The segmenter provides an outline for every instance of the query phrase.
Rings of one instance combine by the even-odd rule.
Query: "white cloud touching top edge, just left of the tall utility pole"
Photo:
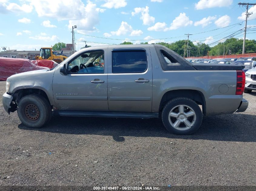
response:
[[[213,7],[228,7],[232,2],[233,0],[200,0],[195,4],[195,8],[199,10]]]

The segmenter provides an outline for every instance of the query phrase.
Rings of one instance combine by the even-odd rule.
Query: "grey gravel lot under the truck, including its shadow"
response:
[[[0,82],[0,93],[5,82]],[[194,135],[160,119],[54,116],[42,129],[0,97],[0,185],[256,185],[256,92],[243,113],[204,117]]]

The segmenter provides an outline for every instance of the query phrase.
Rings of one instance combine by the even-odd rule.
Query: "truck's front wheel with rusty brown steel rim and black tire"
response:
[[[21,122],[31,128],[40,128],[52,116],[49,102],[41,95],[30,94],[21,98],[17,108]]]

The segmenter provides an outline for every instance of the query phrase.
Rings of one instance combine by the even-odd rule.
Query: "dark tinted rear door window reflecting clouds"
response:
[[[147,69],[145,51],[113,51],[112,73],[141,73]]]

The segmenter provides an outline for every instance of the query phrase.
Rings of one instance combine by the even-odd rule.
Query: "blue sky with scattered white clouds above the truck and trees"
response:
[[[134,40],[133,43],[172,43],[187,39],[184,35],[186,33],[193,34],[189,38],[194,43],[200,41],[214,45],[211,43],[235,32],[234,37],[243,37],[239,30],[244,27],[245,8],[239,7],[238,2],[0,0],[0,46],[7,46],[7,49],[39,50],[42,46],[58,42],[72,43],[72,25],[77,25],[76,49],[84,46],[84,41],[92,46],[119,44],[124,40]],[[247,2],[253,3],[250,0]],[[253,33],[256,6],[251,7],[249,12],[254,14],[248,18],[251,32],[248,32],[247,38],[256,39]]]

